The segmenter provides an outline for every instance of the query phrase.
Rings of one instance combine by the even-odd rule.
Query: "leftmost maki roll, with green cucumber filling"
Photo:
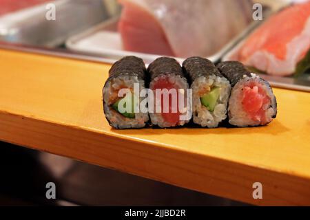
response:
[[[145,64],[141,58],[125,56],[112,65],[103,87],[105,118],[116,129],[143,128],[149,120],[147,112],[139,109],[139,91],[145,88]],[[138,94],[134,92],[134,86]]]

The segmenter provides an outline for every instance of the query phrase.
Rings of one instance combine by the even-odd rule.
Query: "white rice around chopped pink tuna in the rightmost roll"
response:
[[[261,124],[260,121],[251,119],[247,114],[247,112],[243,110],[242,89],[245,87],[245,84],[249,82],[258,83],[259,85],[261,85],[262,89],[266,91],[267,96],[270,98],[270,102],[262,106],[262,109],[264,109],[266,113],[267,124],[271,122],[271,120],[277,113],[276,97],[273,95],[270,85],[267,82],[260,79],[259,76],[255,76],[253,74],[252,77],[245,77],[242,80],[240,80],[231,90],[231,97],[229,99],[228,111],[229,111],[229,123],[232,125],[240,127],[265,125]]]

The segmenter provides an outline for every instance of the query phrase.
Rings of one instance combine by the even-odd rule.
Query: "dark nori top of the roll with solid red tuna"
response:
[[[177,76],[185,77],[183,69],[174,58],[160,57],[153,61],[147,68],[151,80],[154,80],[161,74],[176,74]]]

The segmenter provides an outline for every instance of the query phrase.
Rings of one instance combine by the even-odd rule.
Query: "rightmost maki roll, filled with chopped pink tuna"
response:
[[[262,126],[276,118],[276,97],[266,80],[250,73],[237,61],[219,63],[217,67],[232,87],[228,106],[230,124]]]

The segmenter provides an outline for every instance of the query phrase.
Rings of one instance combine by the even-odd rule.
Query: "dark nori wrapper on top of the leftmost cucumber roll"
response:
[[[109,79],[121,75],[129,75],[138,76],[139,79],[145,80],[145,73],[146,69],[143,59],[136,56],[125,56],[112,65],[109,71]]]

